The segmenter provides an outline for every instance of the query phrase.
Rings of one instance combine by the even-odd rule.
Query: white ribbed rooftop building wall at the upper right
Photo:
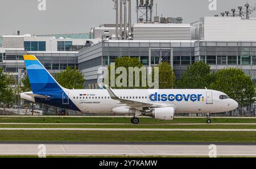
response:
[[[255,41],[256,19],[240,17],[204,17],[191,24],[197,40],[207,41]],[[199,29],[200,28],[200,29]]]

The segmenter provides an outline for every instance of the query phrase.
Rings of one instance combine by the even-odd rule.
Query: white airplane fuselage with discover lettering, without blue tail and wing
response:
[[[113,108],[122,106],[104,89],[65,92],[82,112],[111,113]],[[221,95],[225,95],[223,92],[207,89],[127,89],[113,92],[120,99],[174,107],[175,113],[220,113],[232,111],[238,106],[233,99],[220,99]]]

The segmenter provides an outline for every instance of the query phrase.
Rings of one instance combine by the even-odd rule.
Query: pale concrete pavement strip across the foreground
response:
[[[42,149],[44,145],[46,151]],[[208,156],[213,147],[211,143],[0,142],[0,155],[38,155],[46,152],[46,155]],[[256,157],[256,144],[216,144],[216,153],[218,156]]]

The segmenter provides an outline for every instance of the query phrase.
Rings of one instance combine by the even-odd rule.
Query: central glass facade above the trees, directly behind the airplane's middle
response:
[[[117,57],[138,57],[143,65],[148,65],[148,52],[151,48],[151,65],[160,61],[170,62],[173,54],[174,65],[190,65],[195,62],[193,43],[109,43],[102,44],[103,64],[114,62]]]

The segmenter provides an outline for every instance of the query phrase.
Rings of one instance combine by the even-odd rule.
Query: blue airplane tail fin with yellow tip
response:
[[[61,91],[62,87],[55,81],[51,74],[44,68],[34,55],[23,56],[28,79],[34,94],[48,93],[49,91]]]

